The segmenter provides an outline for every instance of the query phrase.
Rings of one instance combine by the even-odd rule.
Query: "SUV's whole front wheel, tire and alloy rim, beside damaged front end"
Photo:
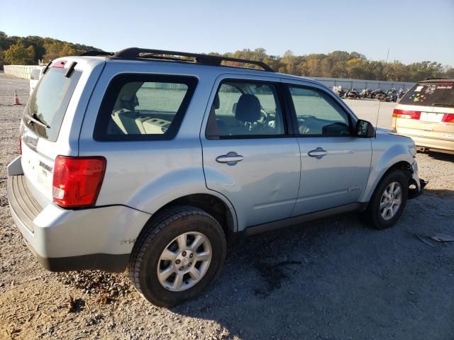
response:
[[[387,229],[396,224],[404,211],[408,197],[408,177],[396,169],[385,175],[370,199],[362,220],[376,229]]]

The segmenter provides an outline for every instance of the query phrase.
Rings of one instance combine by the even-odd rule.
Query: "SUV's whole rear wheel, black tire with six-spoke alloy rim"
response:
[[[134,245],[129,276],[138,293],[172,307],[201,293],[226,258],[221,225],[204,210],[177,206],[158,212]]]

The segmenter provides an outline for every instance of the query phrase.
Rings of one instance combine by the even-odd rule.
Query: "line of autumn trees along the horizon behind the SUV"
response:
[[[52,38],[8,36],[0,32],[0,68],[4,64],[37,64],[57,57],[80,55],[99,48],[74,44]],[[216,52],[210,55],[221,55]],[[384,62],[368,60],[358,52],[334,51],[328,54],[267,55],[264,48],[227,52],[222,56],[265,62],[276,71],[304,77],[353,78],[383,81],[419,81],[426,78],[454,78],[454,68],[439,62],[423,61],[403,64],[397,60]]]

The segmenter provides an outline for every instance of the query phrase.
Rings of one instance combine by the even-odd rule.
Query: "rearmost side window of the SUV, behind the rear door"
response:
[[[181,77],[121,75],[106,91],[96,140],[148,140],[175,137],[196,80]]]

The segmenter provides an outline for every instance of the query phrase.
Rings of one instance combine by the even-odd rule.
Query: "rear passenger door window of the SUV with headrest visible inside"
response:
[[[284,120],[274,84],[223,81],[211,106],[209,138],[284,135]]]

